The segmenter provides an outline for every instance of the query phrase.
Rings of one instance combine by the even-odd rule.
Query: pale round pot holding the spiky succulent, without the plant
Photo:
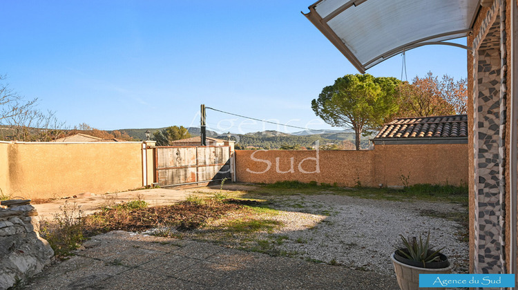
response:
[[[390,259],[396,270],[399,288],[401,290],[437,290],[437,288],[419,288],[419,274],[449,274],[452,273],[453,264],[441,269],[427,269],[403,264],[394,259],[394,253],[390,255]]]

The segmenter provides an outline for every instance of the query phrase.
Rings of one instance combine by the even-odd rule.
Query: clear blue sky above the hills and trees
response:
[[[199,126],[205,104],[331,128],[311,99],[358,71],[300,13],[313,2],[4,0],[0,74],[70,126]],[[407,75],[466,77],[466,54],[450,46],[407,51]],[[400,78],[401,63],[392,57],[367,73]],[[242,121],[207,111],[209,128],[220,131],[298,131]]]

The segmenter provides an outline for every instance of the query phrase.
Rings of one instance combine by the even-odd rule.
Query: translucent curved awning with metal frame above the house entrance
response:
[[[307,19],[362,73],[394,55],[466,37],[479,0],[320,0]],[[470,49],[470,48],[468,48]]]

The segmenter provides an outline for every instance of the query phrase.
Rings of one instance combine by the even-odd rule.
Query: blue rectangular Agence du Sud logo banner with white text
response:
[[[515,287],[515,274],[419,274],[419,287]]]

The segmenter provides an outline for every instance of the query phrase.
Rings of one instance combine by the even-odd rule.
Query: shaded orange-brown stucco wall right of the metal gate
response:
[[[236,177],[240,182],[274,183],[286,180],[340,186],[410,184],[466,184],[468,180],[467,144],[376,145],[374,151],[236,151]],[[253,159],[255,158],[255,160]],[[293,172],[291,168],[293,158]],[[305,171],[305,172],[304,172]],[[255,173],[254,173],[255,172]],[[310,172],[310,173],[308,173]]]

